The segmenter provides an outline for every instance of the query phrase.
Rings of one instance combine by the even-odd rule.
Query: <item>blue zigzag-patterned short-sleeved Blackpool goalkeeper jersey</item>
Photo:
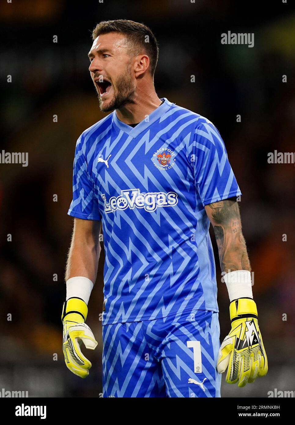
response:
[[[102,323],[218,312],[204,205],[241,195],[216,127],[163,99],[136,127],[116,111],[76,145],[69,215],[102,221]]]

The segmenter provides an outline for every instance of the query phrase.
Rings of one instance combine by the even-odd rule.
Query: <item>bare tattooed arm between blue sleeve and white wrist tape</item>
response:
[[[227,273],[229,270],[251,271],[236,199],[225,199],[206,207],[207,215],[214,228],[221,271]]]

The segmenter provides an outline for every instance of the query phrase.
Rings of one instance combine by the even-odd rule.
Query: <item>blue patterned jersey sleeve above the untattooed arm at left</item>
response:
[[[94,184],[88,172],[88,164],[82,151],[82,136],[76,144],[73,171],[73,200],[68,215],[85,220],[99,220],[98,201],[94,193]]]

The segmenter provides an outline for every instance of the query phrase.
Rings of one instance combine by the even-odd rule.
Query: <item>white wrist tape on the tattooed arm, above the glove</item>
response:
[[[238,298],[253,298],[251,273],[248,270],[235,270],[223,277],[227,285],[230,302]]]

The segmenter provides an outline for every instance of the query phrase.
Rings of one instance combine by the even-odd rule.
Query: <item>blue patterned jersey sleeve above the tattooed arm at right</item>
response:
[[[202,116],[196,124],[190,156],[203,206],[241,195],[224,142],[215,125]]]

